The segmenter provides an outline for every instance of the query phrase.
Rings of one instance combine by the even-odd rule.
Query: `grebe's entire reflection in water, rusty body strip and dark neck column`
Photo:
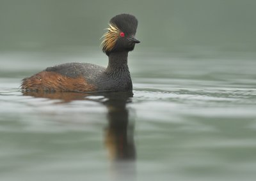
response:
[[[73,100],[91,100],[102,103],[108,109],[108,126],[104,129],[104,145],[112,161],[133,161],[136,159],[133,131],[134,122],[129,122],[127,103],[131,102],[132,92],[23,92],[24,96],[35,98],[60,99],[63,103]],[[104,96],[104,99],[92,99]]]

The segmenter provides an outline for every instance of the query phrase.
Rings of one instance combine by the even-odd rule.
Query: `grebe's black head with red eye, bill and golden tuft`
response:
[[[102,37],[102,50],[107,55],[111,52],[132,51],[136,40],[135,34],[138,26],[138,20],[133,15],[120,14],[111,18],[109,21],[108,32]]]

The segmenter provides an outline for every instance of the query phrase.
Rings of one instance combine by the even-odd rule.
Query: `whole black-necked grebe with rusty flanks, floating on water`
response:
[[[67,63],[46,68],[24,78],[24,91],[131,91],[132,81],[127,64],[128,52],[134,49],[138,20],[120,14],[111,18],[103,36],[102,50],[109,57],[108,67],[88,63]]]

